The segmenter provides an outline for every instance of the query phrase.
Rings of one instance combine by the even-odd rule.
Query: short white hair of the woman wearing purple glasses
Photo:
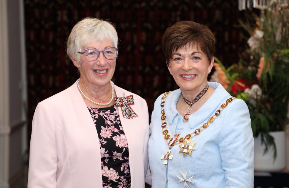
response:
[[[110,39],[113,42],[113,47],[117,48],[117,31],[114,26],[108,21],[97,18],[84,18],[78,21],[72,28],[67,41],[67,54],[69,58],[74,58],[79,61],[80,54],[85,45],[88,45],[92,40],[103,41],[103,39]]]

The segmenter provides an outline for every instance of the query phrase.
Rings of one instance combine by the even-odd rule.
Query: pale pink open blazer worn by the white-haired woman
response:
[[[114,85],[117,97],[133,95],[138,117],[120,121],[127,138],[131,187],[145,187],[148,107],[143,98]],[[101,188],[98,134],[76,82],[37,105],[32,122],[28,188]]]

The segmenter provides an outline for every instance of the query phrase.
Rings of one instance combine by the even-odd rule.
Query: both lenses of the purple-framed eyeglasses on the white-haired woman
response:
[[[116,48],[106,48],[103,52],[103,55],[106,59],[114,59],[117,56]],[[95,61],[99,57],[100,51],[94,49],[85,50],[85,58],[87,61]]]

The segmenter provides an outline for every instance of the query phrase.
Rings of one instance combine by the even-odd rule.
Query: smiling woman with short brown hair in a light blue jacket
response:
[[[253,187],[248,107],[221,84],[207,82],[213,33],[180,21],[166,29],[162,48],[180,88],[155,101],[148,143],[152,187]]]

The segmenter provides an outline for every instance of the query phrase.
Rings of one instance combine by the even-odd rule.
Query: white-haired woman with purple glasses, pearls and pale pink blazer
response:
[[[80,79],[37,105],[28,187],[145,187],[148,107],[111,81],[117,41],[107,21],[73,27],[67,54]]]

